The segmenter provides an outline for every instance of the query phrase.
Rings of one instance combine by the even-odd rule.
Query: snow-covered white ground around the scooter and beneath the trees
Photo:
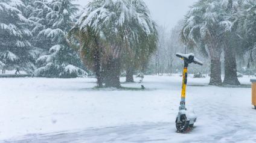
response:
[[[181,80],[146,76],[143,91],[138,83],[98,90],[91,78],[2,78],[0,142],[256,142],[251,88],[210,87],[208,78],[188,79],[197,123],[176,133]]]

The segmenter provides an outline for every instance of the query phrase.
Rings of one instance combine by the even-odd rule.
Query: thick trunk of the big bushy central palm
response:
[[[120,85],[120,72],[121,62],[120,59],[109,58],[106,64],[106,87],[121,87]]]

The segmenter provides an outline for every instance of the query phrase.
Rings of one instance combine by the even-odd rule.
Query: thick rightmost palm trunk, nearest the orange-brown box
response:
[[[237,62],[235,58],[234,48],[225,46],[225,76],[223,84],[228,85],[240,85],[237,78]]]

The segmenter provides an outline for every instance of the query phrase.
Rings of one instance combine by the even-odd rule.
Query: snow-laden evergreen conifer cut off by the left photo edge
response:
[[[32,22],[24,17],[22,1],[0,2],[0,61],[10,70],[19,67],[32,73],[34,49],[28,41],[32,33],[27,28]]]

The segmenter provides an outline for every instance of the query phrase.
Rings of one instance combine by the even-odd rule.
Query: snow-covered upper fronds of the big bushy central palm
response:
[[[86,26],[91,26],[95,31],[101,34],[101,38],[108,37],[108,32],[118,35],[122,32],[123,37],[138,36],[133,26],[138,31],[149,35],[155,32],[155,22],[149,17],[149,10],[144,7],[144,11],[136,8],[144,5],[142,1],[124,1],[124,0],[107,0],[107,1],[92,1],[83,11],[77,25],[83,31],[86,31]],[[132,25],[133,24],[133,25]],[[127,31],[123,31],[124,28]],[[138,32],[137,31],[137,32]]]

